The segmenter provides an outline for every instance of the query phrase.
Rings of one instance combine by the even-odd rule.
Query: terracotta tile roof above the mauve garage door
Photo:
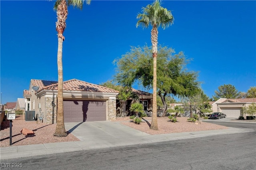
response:
[[[38,86],[40,88],[40,83],[37,81]],[[48,85],[43,87],[42,89],[52,89],[52,90],[58,90],[58,83]],[[110,89],[107,87],[103,87],[100,85],[87,83],[85,81],[81,81],[78,79],[71,79],[68,81],[63,82],[63,90],[66,91],[94,91],[94,92],[103,92],[103,93],[119,93],[119,91],[116,91],[114,89]]]

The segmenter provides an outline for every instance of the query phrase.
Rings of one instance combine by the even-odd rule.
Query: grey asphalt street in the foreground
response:
[[[251,124],[246,124],[250,128]],[[244,125],[244,126],[246,126]],[[235,125],[234,125],[235,126]],[[255,170],[256,130],[1,161],[1,169]]]

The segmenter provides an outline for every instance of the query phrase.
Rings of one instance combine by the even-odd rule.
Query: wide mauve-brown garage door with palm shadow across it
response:
[[[106,101],[64,100],[64,122],[106,121]]]

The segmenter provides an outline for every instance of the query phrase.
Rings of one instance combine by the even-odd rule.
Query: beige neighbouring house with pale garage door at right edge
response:
[[[226,114],[227,117],[246,117],[248,115],[243,114],[242,108],[247,107],[252,103],[256,103],[256,98],[226,99],[220,103],[216,103],[217,112],[222,112]]]

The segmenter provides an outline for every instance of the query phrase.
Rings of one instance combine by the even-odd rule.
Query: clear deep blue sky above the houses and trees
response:
[[[136,28],[136,15],[153,1],[92,0],[68,8],[63,78],[100,84],[112,79],[112,61],[130,46],[151,45],[150,30]],[[30,79],[58,80],[56,12],[53,1],[0,1],[2,104],[16,102]],[[164,1],[174,24],[159,28],[158,42],[184,51],[200,71],[208,97],[220,85],[247,92],[256,86],[256,1]],[[140,89],[140,87],[138,87]]]

